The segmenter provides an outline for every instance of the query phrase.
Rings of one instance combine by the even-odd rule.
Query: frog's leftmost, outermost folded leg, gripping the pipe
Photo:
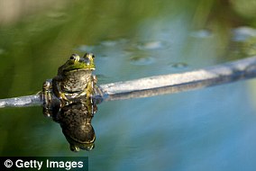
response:
[[[42,91],[41,91],[41,100],[42,100],[43,114],[47,117],[50,117],[52,115],[52,112],[51,112],[51,103],[52,103],[51,80],[46,80],[43,83]]]

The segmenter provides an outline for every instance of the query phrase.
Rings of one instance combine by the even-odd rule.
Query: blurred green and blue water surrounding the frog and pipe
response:
[[[0,98],[37,93],[74,52],[95,53],[99,85],[250,57],[255,12],[255,0],[2,0]],[[251,171],[255,84],[101,103],[90,152],[69,151],[40,106],[1,109],[0,155],[87,156],[90,170]]]

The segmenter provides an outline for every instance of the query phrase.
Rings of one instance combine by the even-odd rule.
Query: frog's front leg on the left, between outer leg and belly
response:
[[[52,91],[53,93],[59,98],[60,100],[60,107],[66,105],[69,103],[69,99],[66,97],[66,95],[61,91],[60,87],[60,78],[59,76],[56,76],[52,79]]]

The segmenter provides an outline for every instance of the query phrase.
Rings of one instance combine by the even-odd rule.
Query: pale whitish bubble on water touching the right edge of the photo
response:
[[[251,37],[256,37],[256,30],[250,27],[239,27],[233,30],[234,41],[245,41]]]

